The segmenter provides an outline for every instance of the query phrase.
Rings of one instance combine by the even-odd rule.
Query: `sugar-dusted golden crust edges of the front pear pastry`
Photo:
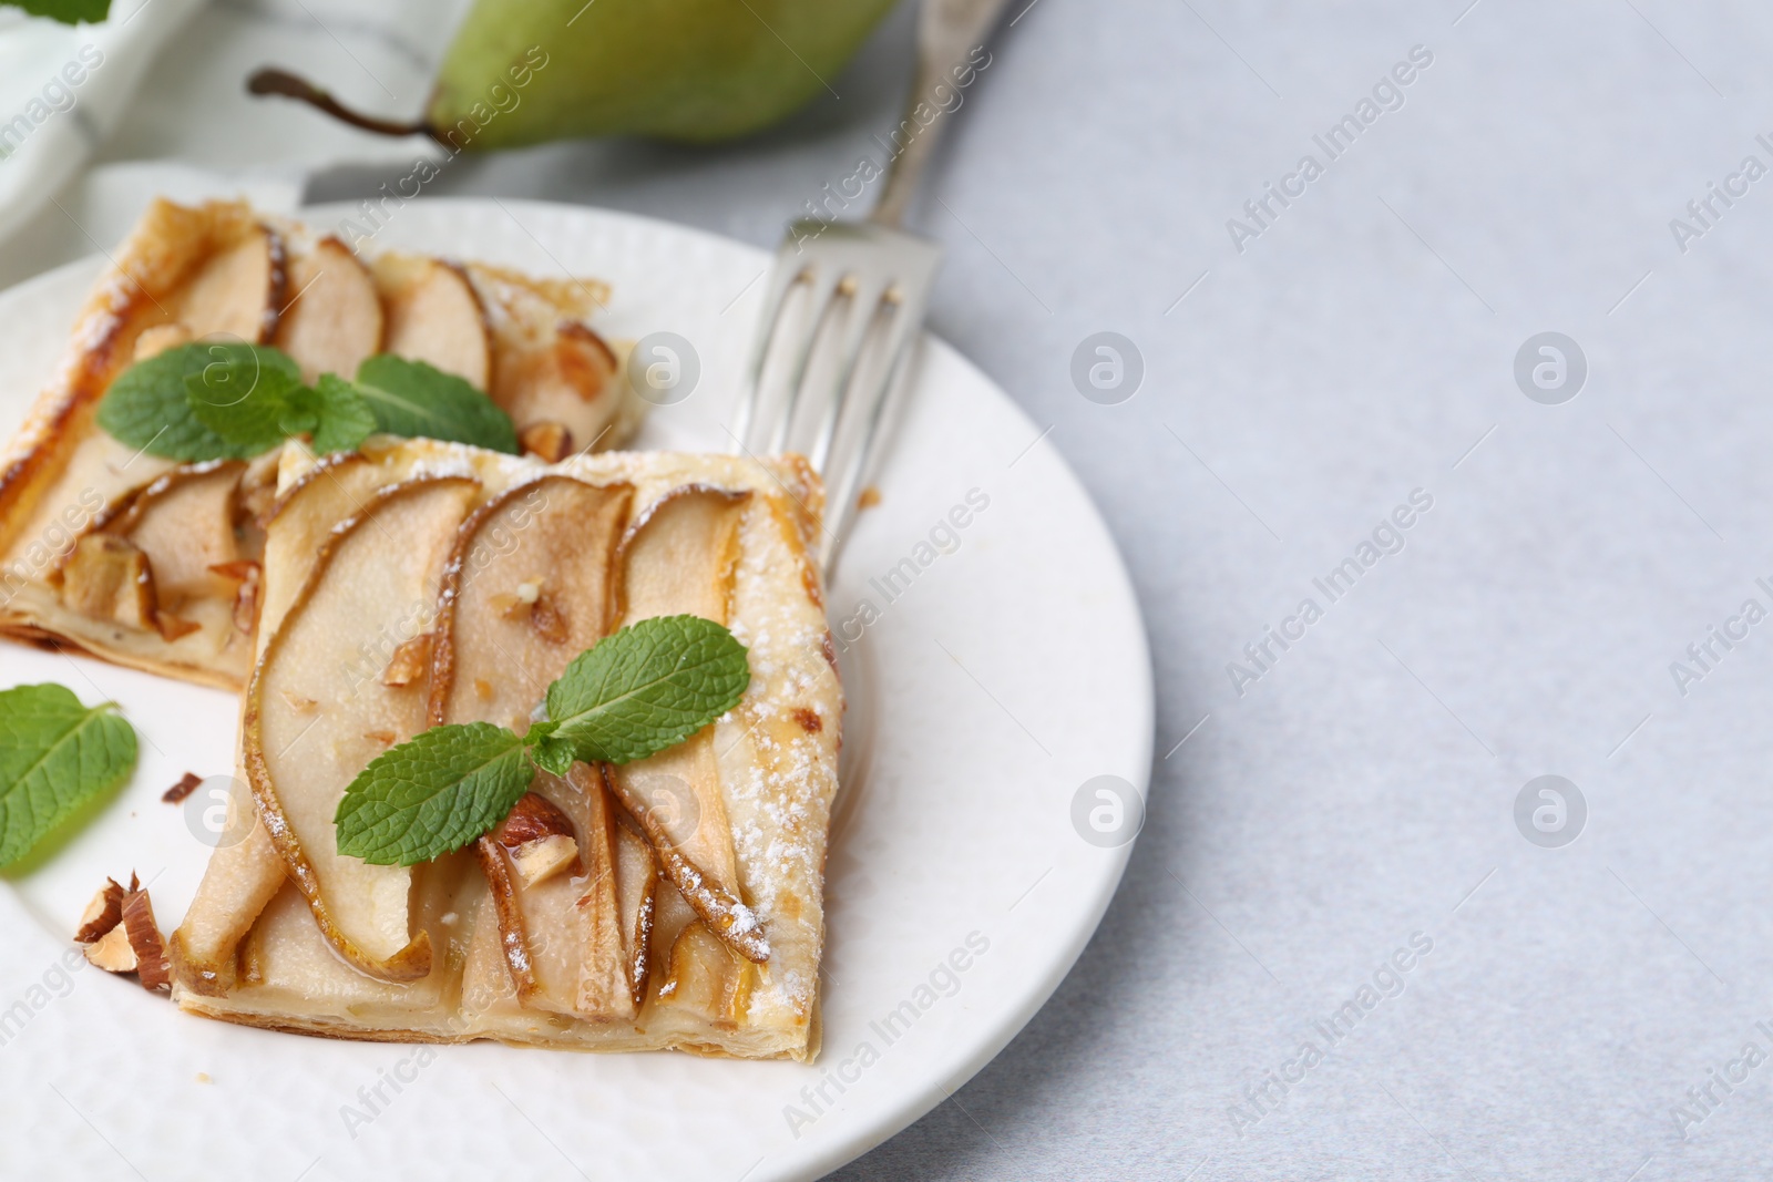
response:
[[[337,463],[337,461],[333,461]],[[312,461],[287,454],[282,486],[301,487]],[[817,1051],[817,978],[823,952],[823,870],[830,805],[837,789],[842,691],[828,650],[819,571],[821,487],[793,457],[757,464],[730,455],[605,454],[562,464],[512,459],[477,448],[404,441],[351,461],[355,489],[417,477],[465,477],[482,503],[543,477],[633,489],[629,521],[647,521],[686,487],[734,494],[738,544],[730,560],[729,626],[752,654],[745,700],[711,727],[720,812],[730,844],[734,888],[759,916],[769,955],[754,966],[723,952],[697,913],[663,879],[652,932],[651,973],[638,1014],[589,1021],[558,1007],[523,1005],[496,946],[489,888],[461,854],[422,868],[413,886],[413,929],[436,950],[426,980],[372,980],[326,946],[300,893],[284,886],[262,913],[236,916],[239,946],[229,973],[206,976],[181,955],[176,934],[174,998],[193,1014],[298,1033],[383,1042],[511,1044],[587,1051],[683,1049],[697,1054],[808,1060]],[[328,477],[330,480],[330,477]],[[314,484],[314,487],[324,487]],[[312,553],[332,528],[287,496],[271,519],[266,611],[287,603],[278,555]],[[546,574],[546,572],[537,572]],[[424,689],[422,686],[418,688]],[[342,783],[339,790],[342,792]],[[269,844],[262,844],[269,851]],[[275,851],[261,852],[275,858]],[[238,904],[229,883],[241,852],[218,854],[186,927],[209,934]],[[225,881],[223,881],[225,879]],[[245,925],[245,927],[241,927]],[[230,980],[223,980],[230,978]]]

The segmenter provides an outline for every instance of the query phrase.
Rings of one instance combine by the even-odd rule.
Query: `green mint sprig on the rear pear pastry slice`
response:
[[[252,459],[291,436],[316,452],[349,452],[376,431],[511,452],[516,427],[461,377],[392,354],[358,379],[321,374],[269,346],[197,342],[137,362],[99,402],[99,427],[128,447],[177,461]]]

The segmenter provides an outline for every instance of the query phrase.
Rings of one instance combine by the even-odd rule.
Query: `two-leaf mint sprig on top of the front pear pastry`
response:
[[[574,760],[631,764],[674,748],[738,705],[750,679],[745,645],[713,620],[631,624],[573,659],[548,688],[548,719],[521,737],[454,723],[371,760],[333,815],[339,852],[411,867],[461,849],[505,819],[534,767],[564,776]]]

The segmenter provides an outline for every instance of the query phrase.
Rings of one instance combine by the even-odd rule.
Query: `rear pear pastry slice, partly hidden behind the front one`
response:
[[[307,381],[395,353],[498,402],[544,459],[628,439],[644,404],[587,324],[601,284],[381,252],[239,202],[156,200],[87,299],[60,372],[0,455],[0,633],[238,689],[255,652],[277,457],[179,464],[96,425],[137,360],[268,344]]]

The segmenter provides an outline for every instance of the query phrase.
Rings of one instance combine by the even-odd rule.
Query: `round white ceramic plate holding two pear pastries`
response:
[[[762,252],[527,202],[411,204],[376,241],[610,280],[610,335],[679,333],[702,367],[686,400],[654,411],[642,447],[727,450],[720,424],[762,298]],[[98,268],[0,294],[5,434]],[[881,503],[862,516],[828,599],[849,636],[851,767],[826,875],[824,1051],[810,1067],[303,1038],[67,971],[69,932],[105,875],[138,870],[161,927],[177,923],[209,854],[204,801],[179,808],[160,794],[184,771],[232,767],[236,707],[211,689],[0,645],[0,684],[57,680],[115,700],[142,735],[137,774],[103,817],[0,888],[0,1173],[814,1178],[941,1102],[1058,985],[1121,879],[1129,845],[1080,836],[1080,787],[1112,774],[1142,797],[1151,764],[1138,608],[1108,532],[1039,434],[927,340]],[[956,507],[972,510],[956,514],[965,528],[943,525]]]

